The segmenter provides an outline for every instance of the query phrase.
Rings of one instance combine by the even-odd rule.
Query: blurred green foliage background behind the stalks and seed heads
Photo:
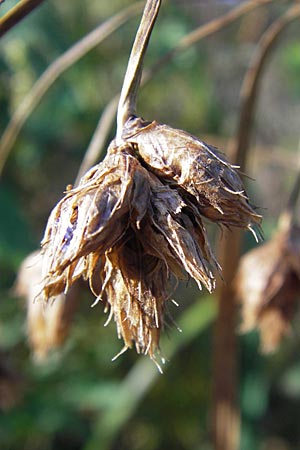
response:
[[[16,2],[7,0],[0,14]],[[0,131],[46,67],[128,0],[46,1],[0,41]],[[166,2],[145,65],[181,37],[236,6],[234,1]],[[139,112],[226,150],[235,135],[239,92],[259,37],[288,6],[274,1],[182,52],[142,90]],[[36,364],[25,305],[12,286],[38,248],[51,208],[73,183],[98,118],[122,85],[138,26],[131,19],[70,68],[26,122],[0,185],[0,449],[209,450],[214,296],[178,288],[171,311],[183,332],[164,332],[164,375],[103,327],[101,304],[82,290],[70,337]],[[247,172],[271,235],[292,186],[300,123],[300,26],[288,27],[268,61],[258,98]],[[114,130],[111,131],[111,137]],[[208,225],[209,226],[209,225]],[[215,236],[213,226],[211,234]],[[245,236],[244,250],[255,245]],[[299,322],[299,318],[298,318]],[[300,336],[268,357],[255,333],[239,338],[242,450],[300,448]]]

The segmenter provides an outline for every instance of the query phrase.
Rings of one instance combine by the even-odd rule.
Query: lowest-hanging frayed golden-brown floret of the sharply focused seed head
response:
[[[119,337],[153,358],[163,325],[167,275],[162,261],[145,255],[136,237],[106,255],[105,298]]]

